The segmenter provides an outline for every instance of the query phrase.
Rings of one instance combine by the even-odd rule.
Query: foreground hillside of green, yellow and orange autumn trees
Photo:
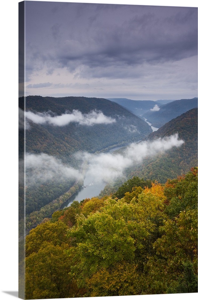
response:
[[[26,299],[197,292],[197,168],[139,184],[73,202],[30,231]]]

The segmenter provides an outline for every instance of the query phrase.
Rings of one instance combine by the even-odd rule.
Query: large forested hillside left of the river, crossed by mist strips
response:
[[[19,211],[23,211],[26,192],[27,230],[52,214],[83,185],[83,161],[76,159],[76,152],[94,153],[127,145],[150,132],[146,122],[106,99],[28,96],[19,98],[21,110],[24,105],[26,191],[22,182]],[[19,128],[19,155],[23,143],[24,129]],[[22,216],[19,214],[19,219]]]

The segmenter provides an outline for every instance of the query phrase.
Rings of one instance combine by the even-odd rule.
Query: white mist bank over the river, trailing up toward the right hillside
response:
[[[146,157],[157,155],[173,147],[180,147],[184,143],[178,139],[178,134],[154,141],[132,143],[122,154],[101,153],[99,155],[81,153],[77,157],[83,157],[88,161],[87,173],[93,180],[112,181],[124,175],[128,167],[139,164]]]

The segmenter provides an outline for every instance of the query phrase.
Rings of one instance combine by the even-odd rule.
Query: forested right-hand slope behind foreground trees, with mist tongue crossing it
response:
[[[186,173],[190,168],[196,167],[197,108],[193,108],[166,123],[158,131],[152,132],[148,139],[155,140],[176,133],[179,134],[179,139],[185,142],[181,147],[174,147],[165,154],[145,159],[141,166],[128,170],[128,178],[139,176],[144,179],[158,179],[158,182],[164,183],[167,178],[173,179]]]

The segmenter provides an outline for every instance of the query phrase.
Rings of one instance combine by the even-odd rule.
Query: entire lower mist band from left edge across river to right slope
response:
[[[91,154],[78,152],[76,160],[86,162],[88,165],[86,174],[93,181],[110,182],[125,176],[125,170],[140,164],[146,157],[152,157],[158,153],[166,152],[173,147],[180,147],[184,143],[179,140],[178,134],[154,141],[142,141],[130,144],[122,154],[100,153]],[[26,184],[36,184],[53,180],[61,182],[67,179],[83,179],[80,170],[63,164],[60,159],[41,154],[26,154],[25,160]]]

